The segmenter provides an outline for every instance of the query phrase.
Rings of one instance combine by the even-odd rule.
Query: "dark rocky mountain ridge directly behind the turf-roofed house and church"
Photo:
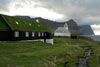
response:
[[[20,17],[20,16],[18,16]],[[70,19],[69,21],[65,21],[65,22],[56,22],[56,21],[52,21],[52,20],[48,20],[48,19],[44,19],[41,17],[37,17],[37,18],[29,18],[27,16],[21,16],[20,18],[25,18],[25,19],[30,19],[30,20],[35,20],[37,22],[42,22],[44,23],[52,32],[54,32],[58,27],[64,27],[64,24],[67,23],[69,31],[71,33],[75,33],[75,34],[80,34],[80,30],[76,24],[76,22],[73,19]]]

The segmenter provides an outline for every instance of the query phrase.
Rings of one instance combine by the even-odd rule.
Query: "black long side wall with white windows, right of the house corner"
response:
[[[15,37],[15,32],[19,32],[19,36]],[[26,37],[26,32],[28,31],[13,31],[13,41],[18,40],[35,40],[35,39],[50,39],[51,34],[48,32],[34,32],[34,37],[32,37],[32,32],[28,32],[29,35]]]

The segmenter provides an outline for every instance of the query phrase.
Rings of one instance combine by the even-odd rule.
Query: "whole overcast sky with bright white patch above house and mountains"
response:
[[[99,24],[100,0],[0,0],[0,13]]]

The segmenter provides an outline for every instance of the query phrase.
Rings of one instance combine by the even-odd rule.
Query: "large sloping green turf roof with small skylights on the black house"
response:
[[[21,19],[14,16],[2,15],[13,30],[51,32],[43,23]]]

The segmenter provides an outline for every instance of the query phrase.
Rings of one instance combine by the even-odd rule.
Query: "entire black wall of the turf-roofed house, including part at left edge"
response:
[[[19,36],[15,37],[15,32],[19,32]],[[39,40],[43,39],[44,42],[51,42],[53,36],[48,32],[34,32],[34,37],[32,37],[32,32],[28,32],[29,36],[26,37],[26,32],[28,31],[0,31],[0,41],[21,41],[21,40]]]

